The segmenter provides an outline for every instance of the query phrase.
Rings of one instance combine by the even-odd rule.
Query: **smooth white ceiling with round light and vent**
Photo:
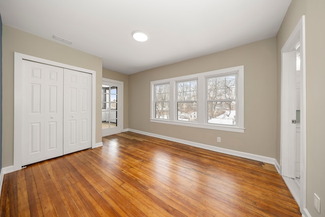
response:
[[[0,0],[3,24],[132,74],[276,36],[291,0]],[[132,38],[145,32],[147,42]]]

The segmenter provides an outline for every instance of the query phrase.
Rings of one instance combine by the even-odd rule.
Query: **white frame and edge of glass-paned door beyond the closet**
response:
[[[104,130],[102,129],[102,137],[104,136],[109,136],[112,134],[117,134],[117,133],[121,133],[123,131],[123,112],[124,112],[124,107],[123,107],[123,93],[124,93],[124,86],[123,86],[123,81],[117,81],[117,80],[112,80],[109,78],[103,78],[102,80],[102,84],[105,83],[109,83],[109,84],[113,84],[115,86],[117,86],[117,97],[118,97],[118,101],[117,101],[117,126],[116,128],[114,128],[114,130],[112,130],[111,132],[109,132],[108,134],[104,132]],[[104,135],[105,133],[105,135]]]

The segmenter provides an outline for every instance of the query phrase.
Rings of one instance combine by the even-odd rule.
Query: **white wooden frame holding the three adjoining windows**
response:
[[[236,100],[236,125],[218,125],[215,123],[208,123],[207,118],[207,96],[206,96],[206,79],[208,77],[237,74],[237,100]],[[177,82],[184,80],[198,80],[198,114],[197,121],[181,121],[177,119]],[[155,118],[154,107],[154,86],[157,84],[170,84],[170,115],[169,119]],[[163,80],[156,80],[150,82],[150,121],[158,123],[168,123],[171,125],[197,127],[212,130],[230,131],[244,133],[244,66],[232,67],[221,70],[214,70],[193,75],[186,75],[176,78],[168,78]]]

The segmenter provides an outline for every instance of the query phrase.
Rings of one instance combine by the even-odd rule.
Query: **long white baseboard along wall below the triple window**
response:
[[[128,131],[143,134],[143,135],[147,135],[147,136],[152,136],[152,137],[159,138],[159,139],[166,139],[166,140],[169,140],[169,141],[178,142],[178,143],[182,143],[182,144],[185,144],[185,145],[190,145],[190,146],[194,146],[194,147],[198,147],[198,148],[203,148],[203,149],[206,149],[206,150],[211,150],[211,151],[215,151],[215,152],[230,154],[230,155],[236,156],[236,157],[241,157],[241,158],[246,158],[246,159],[259,161],[259,162],[263,162],[263,163],[267,163],[267,164],[272,164],[272,165],[275,166],[275,168],[277,169],[278,172],[280,171],[279,170],[280,166],[279,166],[277,160],[274,159],[274,158],[259,156],[257,154],[246,153],[246,152],[241,152],[241,151],[235,151],[235,150],[226,149],[226,148],[220,148],[220,147],[216,147],[216,146],[212,146],[212,145],[206,145],[206,144],[191,142],[191,141],[182,140],[182,139],[176,139],[176,138],[173,138],[173,137],[162,136],[162,135],[158,135],[158,134],[147,133],[147,132],[133,130],[133,129],[128,129]]]

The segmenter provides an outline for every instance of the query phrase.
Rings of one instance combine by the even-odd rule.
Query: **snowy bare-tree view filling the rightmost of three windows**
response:
[[[236,125],[236,77],[207,78],[208,123]]]

